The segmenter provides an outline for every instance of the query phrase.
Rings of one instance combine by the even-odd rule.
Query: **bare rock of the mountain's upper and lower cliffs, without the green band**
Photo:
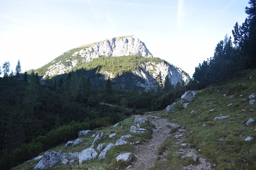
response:
[[[100,57],[120,57],[140,55],[145,58],[153,58],[153,55],[147,50],[145,44],[136,36],[125,36],[118,38],[111,38],[96,42],[92,44],[82,45],[57,57],[40,70],[39,74],[50,77],[68,73],[71,70],[77,69],[81,64],[92,61],[94,58]],[[122,73],[114,74],[110,70],[101,70],[101,79],[111,78],[113,82],[122,82],[122,86],[137,86],[139,89],[145,91],[154,89],[158,86],[157,76],[161,74],[162,84],[164,84],[165,77],[168,76],[172,84],[176,85],[178,82],[184,81],[188,83],[190,78],[180,68],[164,61],[147,60],[138,65],[131,71],[133,75],[129,74],[129,78],[122,75]],[[131,78],[132,76],[132,78]],[[117,80],[119,79],[119,80]],[[125,83],[126,82],[126,83]],[[127,89],[127,88],[126,88]]]

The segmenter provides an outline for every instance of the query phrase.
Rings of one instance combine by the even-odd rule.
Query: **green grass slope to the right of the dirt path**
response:
[[[252,76],[252,79],[249,77]],[[256,124],[246,126],[249,118],[256,118],[255,104],[249,105],[248,96],[256,93],[256,70],[248,70],[240,77],[210,86],[203,90],[196,91],[196,98],[188,104],[186,109],[177,106],[176,110],[166,114],[165,110],[159,111],[157,115],[165,116],[170,122],[185,126],[187,131],[185,136],[190,146],[196,150],[201,149],[203,157],[212,164],[216,164],[216,169],[256,169],[256,142],[244,141],[247,136],[256,138]],[[234,95],[233,99],[230,96]],[[243,95],[243,96],[240,96]],[[246,99],[244,102],[243,100]],[[231,106],[228,106],[231,104]],[[216,112],[209,110],[216,108]],[[194,110],[193,114],[190,112]],[[214,120],[220,115],[229,115],[229,118]],[[171,130],[174,133],[176,130]],[[173,142],[159,148],[161,153],[163,148],[168,148],[168,161],[158,162],[157,168],[166,168],[166,164],[181,165]],[[164,144],[163,143],[163,144]],[[189,160],[187,162],[189,164]],[[185,163],[185,164],[187,164]]]

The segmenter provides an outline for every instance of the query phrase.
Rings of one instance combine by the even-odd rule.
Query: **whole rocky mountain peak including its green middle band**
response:
[[[135,64],[137,61],[132,61],[135,59],[128,61],[120,60],[121,57],[129,58],[132,56],[137,56],[136,59],[139,58],[140,62]],[[102,61],[94,66],[90,65],[89,68],[84,66],[84,64],[90,63],[94,59],[110,59],[112,57],[119,57],[120,61],[118,63],[114,63],[113,60],[111,62],[105,62],[107,65],[104,66],[102,66]],[[117,64],[118,67],[113,69],[113,65]],[[129,67],[128,70],[127,67]],[[79,46],[63,53],[61,56],[35,71],[44,80],[47,76],[53,78],[78,69],[97,69],[97,73],[101,75],[101,80],[110,78],[114,83],[118,82],[120,84],[121,82],[124,89],[127,89],[128,86],[136,86],[135,89],[143,91],[156,89],[158,85],[164,84],[166,76],[173,85],[176,85],[178,82],[187,84],[190,80],[189,75],[181,68],[159,58],[153,58],[153,55],[148,51],[145,44],[134,35],[110,38]],[[132,73],[129,74],[129,78],[124,76],[124,73],[127,72]],[[115,80],[117,78],[119,79]],[[129,79],[129,83],[133,83],[125,83],[127,79]]]

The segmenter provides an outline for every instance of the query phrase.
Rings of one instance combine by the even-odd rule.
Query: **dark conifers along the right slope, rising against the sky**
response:
[[[250,0],[249,4],[250,7],[245,8],[248,17],[241,26],[236,22],[233,27],[233,41],[225,35],[217,44],[214,56],[195,68],[190,82],[194,88],[204,88],[256,67],[256,2]]]

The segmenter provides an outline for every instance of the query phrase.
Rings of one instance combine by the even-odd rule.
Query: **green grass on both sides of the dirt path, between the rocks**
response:
[[[248,96],[256,93],[256,69],[244,71],[239,77],[227,80],[217,85],[212,85],[202,90],[196,91],[195,99],[183,108],[182,104],[177,104],[175,110],[166,113],[165,109],[157,111],[156,116],[162,116],[169,119],[170,123],[179,124],[184,132],[183,142],[187,143],[190,148],[196,149],[196,154],[206,158],[210,166],[215,169],[256,169],[256,143],[255,129],[256,123],[249,126],[246,122],[249,118],[256,119],[255,106],[250,105]],[[252,99],[255,100],[255,99]],[[231,105],[230,105],[231,104]],[[215,112],[209,110],[216,109]],[[194,112],[191,112],[194,111]],[[214,120],[215,117],[229,115],[228,118]],[[109,139],[102,138],[99,143],[115,142],[120,136],[129,133],[131,125],[134,124],[134,116],[120,122],[120,126],[115,129],[117,137]],[[143,128],[150,130],[152,124],[146,124]],[[182,148],[177,145],[178,139],[174,137],[177,129],[170,131],[170,136],[162,143],[158,149],[158,154],[167,152],[165,160],[157,160],[152,169],[182,169],[185,165],[195,165],[199,162],[184,161],[180,159],[181,155],[177,153]],[[104,132],[105,136],[113,133],[113,126],[96,129],[95,131]],[[134,135],[130,142],[145,141],[151,138],[152,131],[145,135]],[[252,141],[245,141],[247,136],[252,136]],[[93,140],[91,135],[83,138],[88,142],[85,145],[73,148],[65,148],[65,141],[54,151],[79,152],[89,147],[90,141]],[[88,144],[89,143],[89,144]],[[80,147],[80,148],[79,148]],[[99,161],[86,161],[81,165],[62,165],[60,162],[57,166],[50,169],[116,169],[127,166],[125,164],[116,164],[115,158],[118,153],[132,152],[132,145],[122,145],[113,147],[109,150],[106,159]],[[41,153],[43,154],[43,153]],[[136,159],[135,157],[133,159]],[[29,169],[38,161],[25,162],[14,169]]]

